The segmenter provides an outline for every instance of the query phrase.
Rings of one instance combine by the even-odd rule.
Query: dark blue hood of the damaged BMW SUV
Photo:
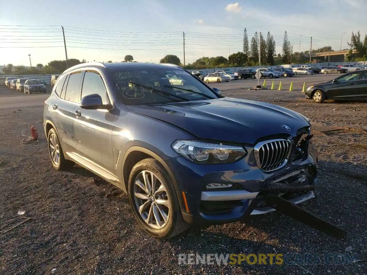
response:
[[[295,136],[308,122],[297,112],[270,103],[220,98],[170,104],[129,105],[127,108],[176,125],[200,139],[254,144],[258,139]],[[288,125],[287,131],[281,125]]]

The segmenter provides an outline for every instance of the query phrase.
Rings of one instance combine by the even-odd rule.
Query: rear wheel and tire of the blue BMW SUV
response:
[[[51,164],[56,170],[62,171],[73,167],[74,162],[69,161],[64,157],[59,137],[57,136],[57,133],[54,128],[51,128],[50,131],[48,132],[47,147],[48,147],[48,153],[50,154],[51,158]],[[52,147],[55,148],[55,151],[53,151]],[[57,153],[58,153],[58,162],[56,161]]]

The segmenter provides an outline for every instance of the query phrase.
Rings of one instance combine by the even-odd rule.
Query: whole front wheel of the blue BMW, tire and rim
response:
[[[152,175],[156,177],[155,192],[151,191]],[[158,193],[157,189],[161,189],[161,186],[164,189]],[[130,205],[139,224],[149,235],[167,239],[182,233],[189,227],[189,224],[183,220],[176,191],[178,190],[175,190],[170,175],[156,159],[143,159],[131,169],[128,180]],[[142,205],[145,205],[146,209],[143,208],[145,212],[140,213],[139,208],[141,209]],[[159,222],[152,213],[153,207],[155,207],[156,213],[158,212]],[[163,219],[163,214],[166,221]]]

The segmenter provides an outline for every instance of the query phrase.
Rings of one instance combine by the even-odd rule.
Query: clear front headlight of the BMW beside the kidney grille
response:
[[[246,156],[243,147],[206,143],[199,140],[176,140],[172,149],[183,158],[197,164],[221,164],[238,161]]]

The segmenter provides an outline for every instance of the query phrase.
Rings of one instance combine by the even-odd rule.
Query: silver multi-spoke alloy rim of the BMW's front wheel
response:
[[[142,219],[150,227],[163,228],[170,216],[170,201],[166,186],[148,170],[140,172],[134,182],[135,205]]]

